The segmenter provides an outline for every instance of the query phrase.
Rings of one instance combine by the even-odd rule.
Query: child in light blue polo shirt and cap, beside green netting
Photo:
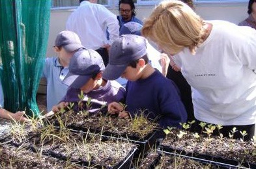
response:
[[[72,31],[59,32],[53,46],[57,57],[48,57],[44,63],[42,77],[47,80],[47,110],[51,110],[64,94],[68,86],[62,83],[68,73],[68,64],[78,49],[83,48],[78,35]]]

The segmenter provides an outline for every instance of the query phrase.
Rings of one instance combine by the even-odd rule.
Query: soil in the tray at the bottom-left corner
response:
[[[76,164],[70,164],[70,162],[59,161],[59,159],[50,156],[7,145],[0,147],[0,159],[0,168],[81,168]]]

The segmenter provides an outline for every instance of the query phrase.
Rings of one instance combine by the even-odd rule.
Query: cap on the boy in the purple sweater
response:
[[[79,49],[74,53],[68,65],[69,72],[63,83],[72,88],[81,88],[92,75],[105,69],[100,54],[92,49]]]

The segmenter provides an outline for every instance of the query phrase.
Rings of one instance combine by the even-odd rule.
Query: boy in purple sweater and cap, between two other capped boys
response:
[[[53,112],[68,106],[70,102],[76,103],[75,110],[78,110],[78,95],[83,91],[88,101],[91,98],[90,112],[101,109],[113,101],[124,99],[124,88],[116,81],[102,79],[102,71],[105,69],[104,62],[100,55],[92,49],[80,49],[70,60],[69,72],[64,78],[63,83],[70,86],[66,95],[53,107]],[[84,104],[86,105],[86,104]],[[83,107],[83,109],[88,109]]]

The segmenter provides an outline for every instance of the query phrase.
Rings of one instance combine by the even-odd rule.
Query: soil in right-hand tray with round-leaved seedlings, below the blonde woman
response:
[[[194,133],[186,131],[186,134],[179,138],[179,129],[173,129],[163,140],[162,146],[167,149],[181,153],[195,153],[208,155],[219,159],[230,159],[239,162],[256,163],[256,148],[253,141],[244,142],[230,138],[218,138],[205,135],[195,138]]]

